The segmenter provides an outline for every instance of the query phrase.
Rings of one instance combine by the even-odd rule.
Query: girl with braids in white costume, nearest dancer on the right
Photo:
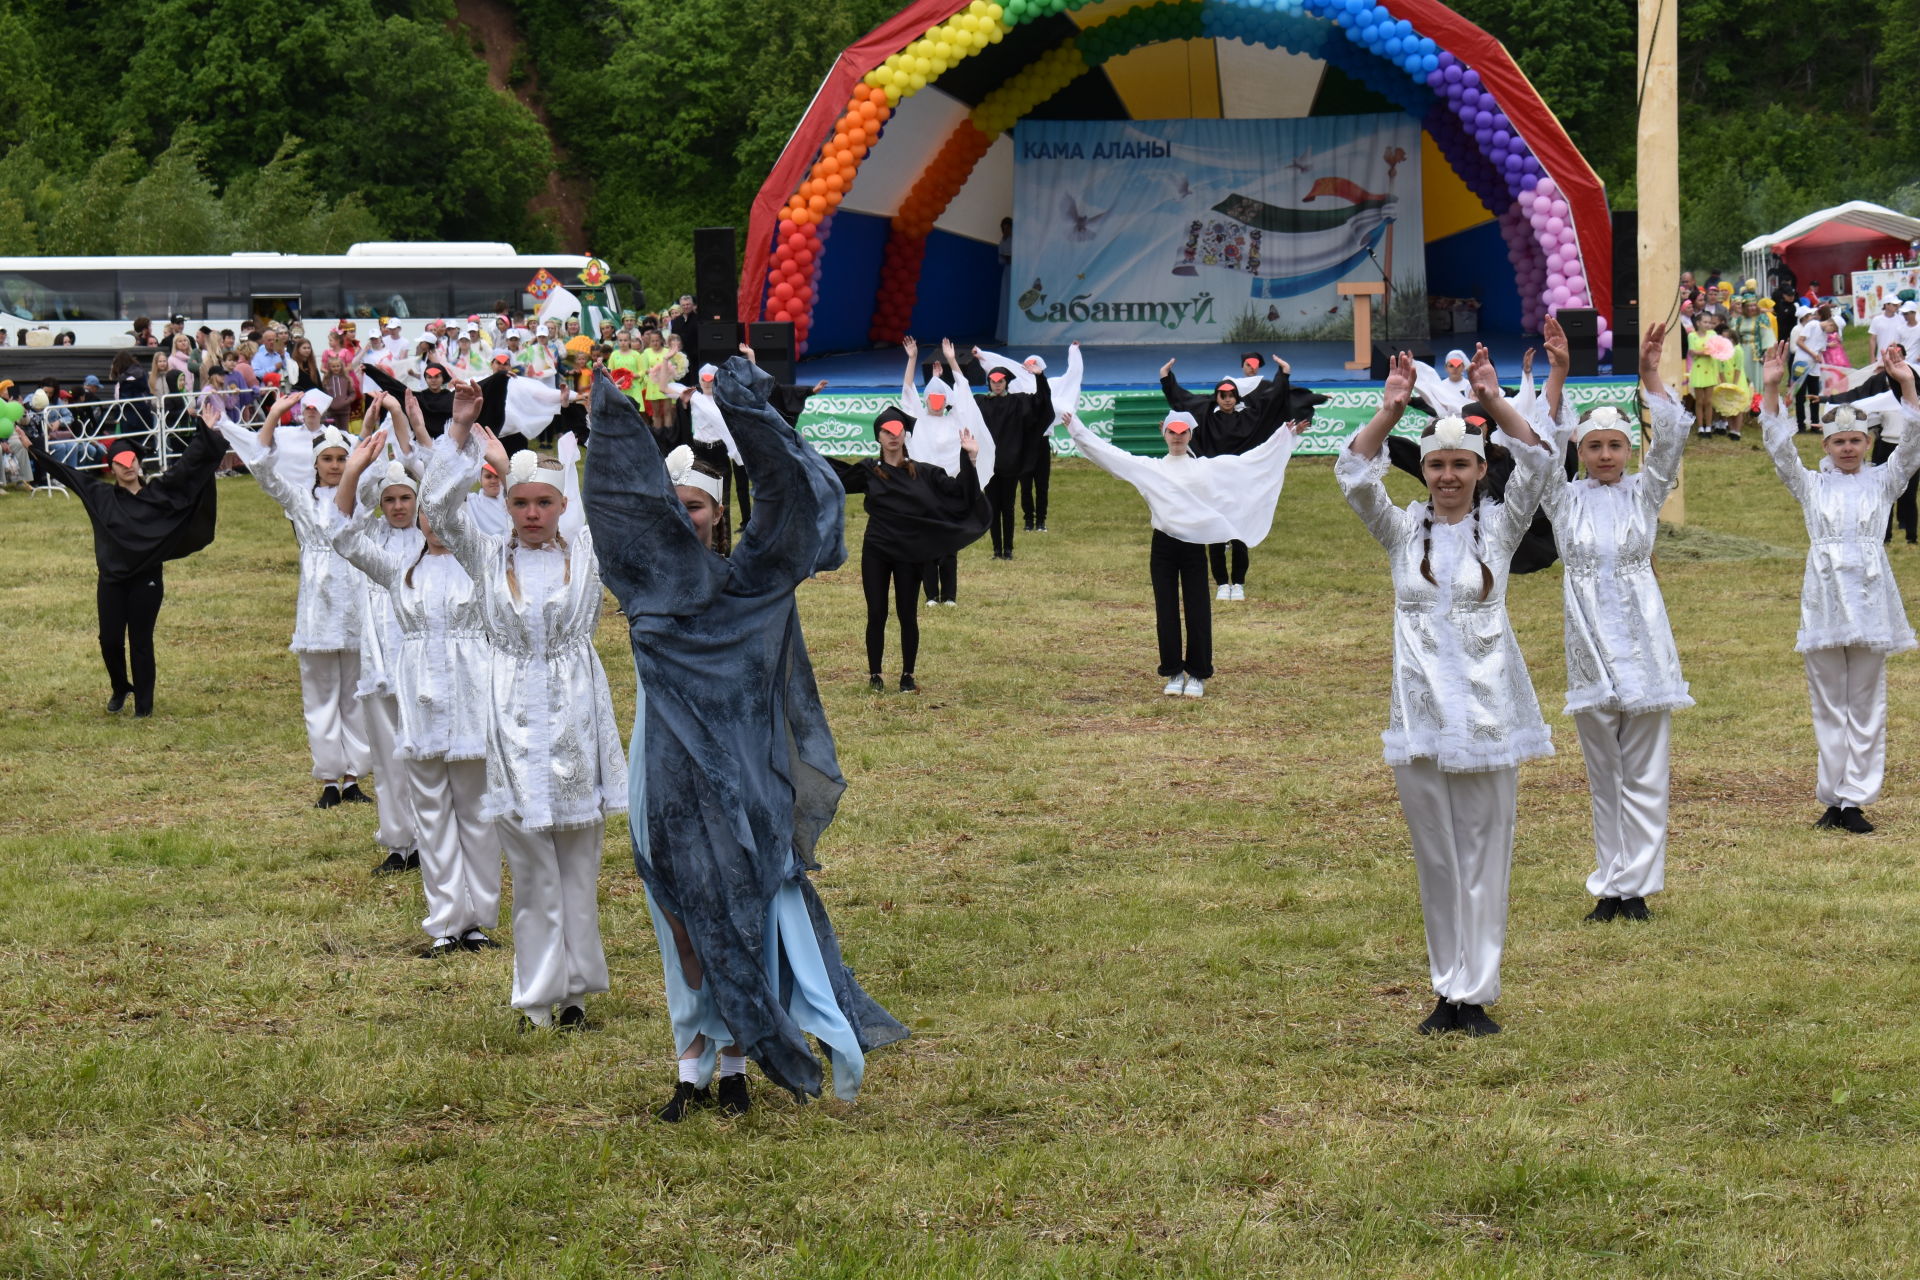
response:
[[[1484,1036],[1500,1031],[1484,1006],[1500,998],[1519,764],[1553,754],[1507,622],[1507,562],[1555,455],[1501,395],[1486,347],[1469,376],[1513,455],[1503,503],[1482,497],[1486,439],[1461,418],[1421,436],[1428,499],[1400,509],[1386,495],[1382,445],[1413,391],[1405,351],[1334,478],[1394,576],[1394,689],[1380,739],[1413,837],[1438,996],[1419,1031]]]

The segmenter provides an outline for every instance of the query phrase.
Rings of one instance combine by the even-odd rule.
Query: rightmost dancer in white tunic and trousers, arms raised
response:
[[[1793,649],[1807,662],[1812,699],[1812,737],[1820,748],[1816,796],[1826,812],[1816,827],[1864,835],[1874,829],[1862,812],[1880,798],[1887,770],[1887,654],[1914,647],[1914,629],[1893,581],[1882,543],[1893,503],[1920,468],[1920,401],[1914,374],[1899,347],[1882,355],[1905,415],[1901,443],[1885,462],[1866,461],[1866,405],[1836,405],[1820,424],[1826,459],[1809,470],[1793,447],[1793,418],[1780,403],[1786,344],[1766,353],[1761,436],[1774,470],[1807,520],[1807,576],[1801,583],[1801,626]]]

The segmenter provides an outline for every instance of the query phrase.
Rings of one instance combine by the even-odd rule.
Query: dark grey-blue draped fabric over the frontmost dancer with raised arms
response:
[[[586,507],[601,580],[620,603],[645,691],[645,816],[634,862],[676,915],[735,1044],[770,1080],[820,1094],[822,1069],[787,1015],[787,975],[768,979],[768,904],[806,900],[833,994],[864,1052],[906,1036],[841,961],[806,871],[847,789],[793,593],[847,560],[833,468],[768,405],[772,378],[733,357],[714,399],[755,482],[753,522],[732,557],[701,547],[659,443],[634,403],[593,382]],[[643,756],[643,762],[639,760]],[[660,940],[670,946],[668,938]]]

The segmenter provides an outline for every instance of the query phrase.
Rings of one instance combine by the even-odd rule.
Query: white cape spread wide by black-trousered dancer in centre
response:
[[[1300,443],[1294,428],[1283,424],[1246,453],[1146,459],[1100,439],[1079,418],[1068,424],[1068,436],[1094,466],[1140,491],[1154,528],[1167,537],[1248,547],[1258,547],[1273,530],[1286,462]]]

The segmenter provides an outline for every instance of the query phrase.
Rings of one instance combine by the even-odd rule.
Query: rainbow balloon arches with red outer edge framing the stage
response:
[[[1089,2],[918,0],[849,46],[755,198],[741,317],[791,320],[804,353],[835,211],[876,163],[895,107],[1021,25]],[[1194,38],[1323,59],[1417,117],[1498,223],[1523,326],[1536,332],[1557,309],[1594,307],[1601,349],[1611,345],[1603,184],[1505,48],[1434,0],[1164,0],[1079,27],[979,98],[931,155],[883,157],[918,165],[918,177],[891,215],[868,338],[906,334],[927,238],[1000,134],[1112,58]]]

